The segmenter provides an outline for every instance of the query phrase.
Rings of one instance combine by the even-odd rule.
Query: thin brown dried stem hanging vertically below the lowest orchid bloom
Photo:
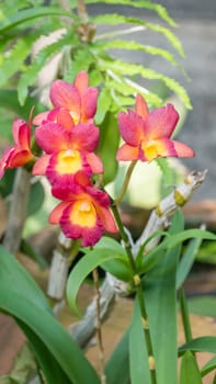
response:
[[[95,300],[96,300],[96,337],[99,342],[99,352],[100,352],[100,363],[101,363],[101,384],[105,384],[105,363],[104,363],[104,348],[103,348],[103,338],[102,338],[102,323],[101,323],[101,293],[99,289],[99,271],[98,269],[93,270],[93,282],[95,289]]]

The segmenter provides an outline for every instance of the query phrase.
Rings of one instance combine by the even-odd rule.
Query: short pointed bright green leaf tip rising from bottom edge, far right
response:
[[[180,384],[202,384],[201,372],[193,353],[186,351],[182,358]]]

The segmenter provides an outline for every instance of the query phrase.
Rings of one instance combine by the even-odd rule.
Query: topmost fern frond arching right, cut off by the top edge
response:
[[[134,0],[118,0],[117,3],[115,0],[87,0],[86,3],[89,4],[98,4],[98,3],[106,3],[113,5],[129,5],[134,8],[148,9],[158,14],[163,21],[166,21],[170,26],[177,26],[175,21],[169,15],[167,9],[158,3],[152,3],[151,1],[134,1]]]

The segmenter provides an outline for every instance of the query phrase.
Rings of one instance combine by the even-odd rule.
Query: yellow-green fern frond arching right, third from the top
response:
[[[178,64],[178,61],[175,60],[175,58],[173,57],[173,55],[169,50],[158,48],[155,46],[150,46],[150,45],[144,45],[144,44],[137,43],[135,41],[127,42],[124,39],[115,39],[115,41],[111,41],[111,42],[100,43],[100,44],[98,44],[98,47],[103,48],[103,49],[141,50],[141,52],[150,54],[150,55],[160,56],[160,57],[164,58],[166,60],[170,61],[175,67],[180,66]]]

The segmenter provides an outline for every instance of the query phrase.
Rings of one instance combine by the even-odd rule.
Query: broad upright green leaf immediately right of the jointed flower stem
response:
[[[177,212],[169,234],[182,230],[183,216]],[[178,331],[175,274],[181,245],[168,250],[144,280],[158,384],[177,384]],[[166,346],[161,352],[161,346]]]

